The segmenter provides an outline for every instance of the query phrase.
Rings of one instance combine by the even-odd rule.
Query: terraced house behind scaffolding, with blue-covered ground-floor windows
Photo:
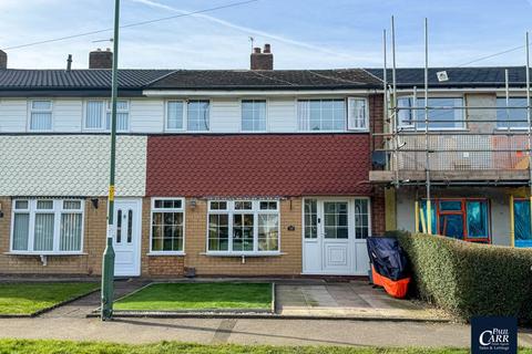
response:
[[[375,135],[370,180],[389,187],[387,227],[531,247],[525,67],[430,69],[427,102],[424,77],[397,70],[397,110]]]

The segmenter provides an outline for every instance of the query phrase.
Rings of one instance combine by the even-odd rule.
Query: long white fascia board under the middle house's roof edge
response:
[[[144,90],[149,97],[231,97],[231,96],[324,96],[324,95],[367,95],[379,90]]]

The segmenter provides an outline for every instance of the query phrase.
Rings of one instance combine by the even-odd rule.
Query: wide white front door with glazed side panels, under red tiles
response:
[[[305,198],[303,272],[367,275],[369,199]]]

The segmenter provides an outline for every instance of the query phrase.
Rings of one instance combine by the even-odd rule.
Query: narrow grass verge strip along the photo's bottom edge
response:
[[[202,345],[183,344],[177,342],[161,342],[144,345],[94,343],[94,342],[66,342],[66,341],[29,341],[29,340],[0,340],[0,354],[458,354],[469,353],[469,350],[457,348],[361,348],[348,346],[266,346],[266,345]],[[532,351],[523,350],[519,353],[531,354]]]

